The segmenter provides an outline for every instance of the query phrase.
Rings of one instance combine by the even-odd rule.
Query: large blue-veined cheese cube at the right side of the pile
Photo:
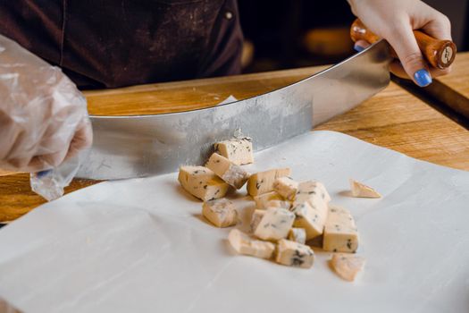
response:
[[[342,207],[331,207],[324,226],[322,249],[354,253],[358,248],[358,232],[354,218]]]

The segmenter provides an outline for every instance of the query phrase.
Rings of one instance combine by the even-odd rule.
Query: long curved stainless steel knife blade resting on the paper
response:
[[[212,145],[236,130],[255,150],[272,147],[348,111],[389,84],[389,46],[378,42],[342,63],[274,90],[222,106],[136,116],[91,116],[93,147],[79,177],[123,179],[202,165]]]

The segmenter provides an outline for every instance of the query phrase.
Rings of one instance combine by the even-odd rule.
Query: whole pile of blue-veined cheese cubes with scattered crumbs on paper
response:
[[[322,239],[322,250],[342,252],[333,255],[331,266],[342,278],[354,280],[364,266],[364,258],[352,254],[358,248],[358,232],[353,216],[342,207],[329,203],[331,196],[321,182],[295,182],[289,168],[247,173],[241,166],[254,162],[252,142],[248,138],[215,144],[215,152],[205,166],[181,166],[181,186],[204,201],[202,213],[217,227],[238,223],[234,204],[223,198],[230,188],[241,189],[254,199],[250,230],[232,229],[231,246],[240,254],[273,258],[286,266],[309,268],[314,264],[314,250],[306,241]],[[356,197],[379,194],[351,181]]]

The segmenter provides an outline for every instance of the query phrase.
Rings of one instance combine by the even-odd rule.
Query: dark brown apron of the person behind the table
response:
[[[0,0],[0,33],[81,89],[240,72],[236,0]]]

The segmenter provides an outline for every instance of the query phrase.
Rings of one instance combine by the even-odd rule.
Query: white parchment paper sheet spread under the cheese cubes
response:
[[[331,131],[255,155],[348,207],[367,259],[355,283],[237,256],[177,173],[103,182],[0,230],[0,297],[25,312],[468,312],[469,173]],[[382,199],[348,197],[348,178]],[[244,192],[244,191],[243,191]],[[253,202],[237,201],[241,216]],[[246,227],[246,220],[239,227]]]

